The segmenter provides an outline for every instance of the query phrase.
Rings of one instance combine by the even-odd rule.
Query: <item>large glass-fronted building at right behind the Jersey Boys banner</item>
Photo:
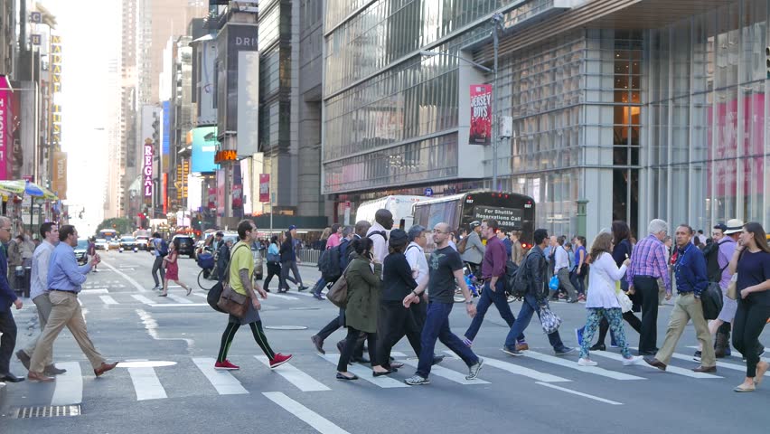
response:
[[[324,193],[526,193],[537,223],[770,224],[764,0],[330,0]],[[501,13],[496,74],[493,14]],[[428,52],[428,53],[427,53]],[[466,61],[467,60],[467,61]],[[472,85],[512,137],[470,143]],[[493,166],[499,185],[492,185]]]

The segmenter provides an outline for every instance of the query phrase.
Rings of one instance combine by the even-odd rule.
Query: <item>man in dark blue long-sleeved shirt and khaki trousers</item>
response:
[[[703,317],[703,305],[700,301],[700,294],[709,286],[709,278],[706,275],[706,259],[700,250],[690,242],[693,234],[692,228],[686,224],[681,224],[676,228],[677,259],[674,265],[674,276],[679,297],[676,298],[673,311],[671,311],[666,340],[655,357],[646,357],[644,362],[665,371],[684,326],[692,319],[692,325],[695,326],[696,335],[703,347],[700,366],[692,371],[716,373],[717,358],[714,355],[714,347],[711,346],[709,325],[706,318]]]

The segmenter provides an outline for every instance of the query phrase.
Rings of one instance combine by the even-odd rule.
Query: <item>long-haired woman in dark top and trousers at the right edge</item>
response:
[[[746,379],[734,390],[754,392],[770,367],[760,361],[758,348],[759,335],[770,318],[770,247],[761,224],[743,226],[729,267],[731,273],[737,273],[733,346],[746,357]]]

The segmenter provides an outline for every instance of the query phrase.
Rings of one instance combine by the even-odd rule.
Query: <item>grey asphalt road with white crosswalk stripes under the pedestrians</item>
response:
[[[8,384],[2,403],[0,433],[209,433],[322,432],[400,433],[429,430],[474,432],[700,432],[741,430],[770,432],[770,386],[738,394],[732,388],[744,376],[739,357],[719,361],[715,375],[693,375],[698,363],[690,359],[696,344],[689,326],[682,335],[671,369],[662,373],[646,364],[624,367],[618,350],[594,354],[597,368],[577,366],[577,353],[554,357],[540,323],[527,330],[531,351],[510,357],[500,350],[507,327],[492,309],[487,314],[474,351],[485,358],[479,380],[465,382],[465,364],[447,359],[431,374],[431,384],[409,387],[402,381],[416,363],[406,340],[395,350],[407,366],[390,377],[373,379],[368,368],[356,382],[335,380],[337,331],[324,345],[324,358],[310,342],[337,314],[327,301],[317,301],[294,289],[263,303],[264,325],[298,328],[268,329],[277,352],[294,354],[290,363],[270,371],[257,357],[263,354],[248,328],[239,331],[229,359],[239,371],[211,370],[226,316],[214,312],[198,288],[199,271],[192,259],[182,259],[180,277],[195,290],[185,297],[157,297],[150,277],[152,258],[146,252],[103,254],[99,273],[90,274],[80,295],[89,335],[109,360],[127,363],[96,379],[68,331],[55,344],[55,361],[70,372],[49,384]],[[300,267],[312,286],[317,270]],[[585,323],[582,304],[552,304],[564,319],[566,344],[577,344],[573,329]],[[519,304],[512,304],[518,314]],[[661,308],[659,345],[671,305]],[[19,326],[17,349],[39,332],[32,302],[14,311]],[[470,323],[458,305],[451,316],[455,334]],[[628,327],[626,327],[628,328]],[[770,344],[770,327],[762,342]],[[634,331],[630,340],[638,343]],[[608,342],[607,342],[608,344]],[[446,350],[441,344],[437,352]],[[255,357],[256,356],[256,357]],[[142,362],[145,363],[142,363]],[[25,374],[15,359],[12,371]],[[77,416],[19,418],[30,409],[62,406]],[[40,414],[40,413],[37,413]]]

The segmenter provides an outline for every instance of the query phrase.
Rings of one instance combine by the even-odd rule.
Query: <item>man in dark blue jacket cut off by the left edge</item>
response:
[[[11,354],[16,346],[16,322],[11,313],[11,305],[16,310],[22,308],[22,300],[16,297],[8,285],[8,259],[5,258],[5,243],[11,241],[11,219],[0,216],[0,382],[21,382],[23,378],[10,371]]]

